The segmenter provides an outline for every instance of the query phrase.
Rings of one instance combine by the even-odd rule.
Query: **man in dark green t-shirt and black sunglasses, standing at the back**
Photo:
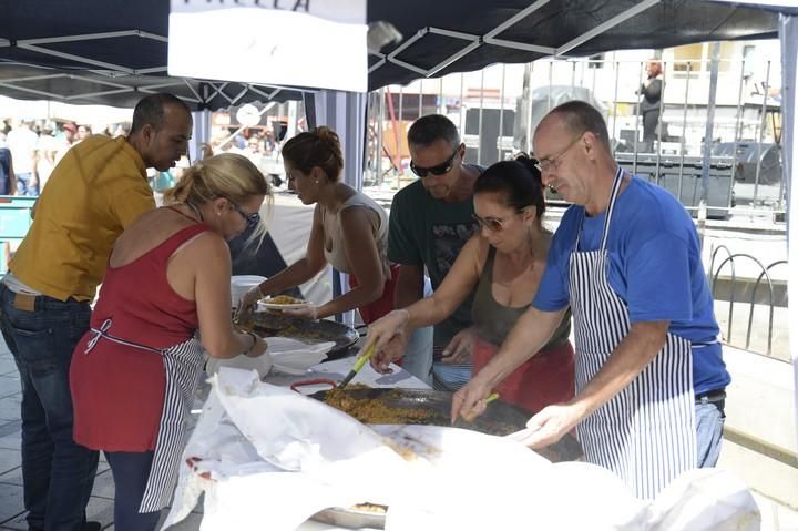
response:
[[[446,116],[430,114],[408,131],[410,169],[419,180],[393,197],[388,232],[388,258],[400,265],[395,307],[403,308],[423,296],[424,269],[437,289],[466,242],[477,229],[473,184],[482,169],[463,163],[466,145]],[[440,353],[461,330],[471,326],[473,293],[448,319],[434,327],[434,351]],[[407,356],[430,356],[407,353]],[[457,390],[471,378],[471,365],[436,361],[437,388]]]

